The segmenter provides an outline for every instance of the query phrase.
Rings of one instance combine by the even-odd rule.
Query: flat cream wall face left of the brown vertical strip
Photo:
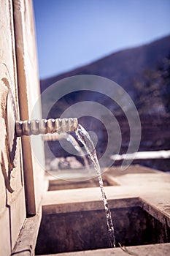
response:
[[[18,114],[18,80],[12,0],[0,1],[0,254],[8,256],[26,218],[23,167],[13,167],[7,135],[7,94],[12,92]],[[11,110],[12,112],[12,110]]]

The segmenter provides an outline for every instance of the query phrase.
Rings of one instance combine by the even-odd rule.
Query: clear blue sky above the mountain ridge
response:
[[[39,76],[170,34],[169,0],[34,0]]]

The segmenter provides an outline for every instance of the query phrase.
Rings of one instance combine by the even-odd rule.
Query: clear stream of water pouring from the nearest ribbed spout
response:
[[[88,135],[88,132],[79,124],[77,127],[76,136],[78,140],[85,146],[86,151],[88,152],[88,157],[90,158],[91,162],[93,162],[94,168],[97,171],[98,181],[101,188],[101,194],[104,201],[104,208],[107,214],[107,229],[109,233],[109,240],[111,242],[112,247],[115,247],[115,233],[114,233],[114,227],[112,223],[112,217],[111,212],[109,210],[109,205],[107,203],[107,197],[104,192],[104,184],[101,178],[101,168],[98,163],[97,155],[96,155],[96,149],[93,145],[93,141],[90,139],[90,136]]]

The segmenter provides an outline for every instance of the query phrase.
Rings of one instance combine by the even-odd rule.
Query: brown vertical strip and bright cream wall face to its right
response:
[[[41,119],[39,99],[39,80],[36,60],[36,45],[34,34],[34,14],[32,1],[13,0],[15,21],[15,46],[18,68],[18,98],[20,119]],[[36,104],[36,108],[34,105]],[[36,214],[44,188],[44,148],[41,139],[36,139],[35,150],[39,152],[39,161],[34,138],[22,138],[22,158],[24,165],[24,180],[26,191],[27,214]],[[36,157],[35,157],[36,156]],[[40,165],[42,164],[42,165]]]

